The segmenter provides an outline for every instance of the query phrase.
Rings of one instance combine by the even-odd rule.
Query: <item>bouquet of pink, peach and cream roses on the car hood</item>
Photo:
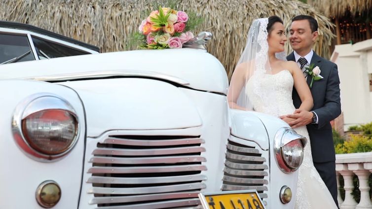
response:
[[[142,49],[182,48],[182,45],[194,38],[191,30],[200,23],[190,18],[186,12],[159,6],[142,21],[137,39]]]

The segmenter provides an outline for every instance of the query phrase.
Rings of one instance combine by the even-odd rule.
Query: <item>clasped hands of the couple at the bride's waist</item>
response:
[[[292,128],[297,128],[311,123],[313,113],[306,110],[296,109],[293,114],[282,115],[279,116],[279,118],[288,123]]]

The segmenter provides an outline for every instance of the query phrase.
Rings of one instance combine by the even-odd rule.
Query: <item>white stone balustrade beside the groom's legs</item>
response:
[[[336,174],[337,188],[339,191],[339,177],[344,180],[345,199],[342,200],[338,192],[337,200],[340,209],[372,209],[370,198],[370,186],[368,179],[372,173],[372,152],[337,154]],[[353,176],[357,175],[359,180],[360,201],[357,203],[351,192],[354,189]]]

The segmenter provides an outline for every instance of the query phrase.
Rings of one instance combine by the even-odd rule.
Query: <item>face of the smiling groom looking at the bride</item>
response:
[[[316,33],[316,35],[314,35]],[[317,32],[311,32],[308,20],[293,21],[290,28],[289,40],[293,50],[310,51],[313,41],[315,41]]]

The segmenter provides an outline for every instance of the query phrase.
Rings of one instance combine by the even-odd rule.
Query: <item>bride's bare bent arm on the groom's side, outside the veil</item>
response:
[[[298,93],[298,96],[301,100],[301,105],[298,109],[310,111],[313,108],[313,97],[309,86],[306,83],[306,79],[303,77],[303,72],[298,68],[298,65],[291,61],[289,62],[292,69],[292,76],[294,81],[294,87]]]

